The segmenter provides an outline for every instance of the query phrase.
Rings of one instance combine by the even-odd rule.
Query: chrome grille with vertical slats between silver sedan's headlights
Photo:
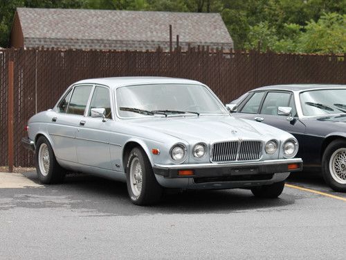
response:
[[[212,146],[212,162],[253,161],[262,155],[261,141],[225,141]]]

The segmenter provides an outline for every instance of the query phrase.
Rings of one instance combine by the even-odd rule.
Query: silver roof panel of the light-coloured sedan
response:
[[[129,85],[145,85],[145,84],[197,84],[203,85],[196,80],[187,80],[184,78],[168,78],[168,77],[114,77],[114,78],[89,78],[80,80],[75,84],[100,84],[111,88],[118,88]]]

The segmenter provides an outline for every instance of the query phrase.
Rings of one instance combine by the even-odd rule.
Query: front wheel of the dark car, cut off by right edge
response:
[[[322,175],[334,191],[346,191],[346,141],[332,141],[322,157]]]

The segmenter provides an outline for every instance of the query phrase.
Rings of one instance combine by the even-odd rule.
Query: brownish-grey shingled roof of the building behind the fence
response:
[[[17,8],[16,17],[24,47],[168,49],[172,24],[173,40],[179,35],[183,48],[188,44],[233,48],[217,13]]]

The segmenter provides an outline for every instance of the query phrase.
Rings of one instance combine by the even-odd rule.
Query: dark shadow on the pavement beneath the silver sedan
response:
[[[36,173],[24,173],[37,182]],[[222,214],[246,210],[285,210],[295,197],[282,193],[277,199],[255,198],[251,191],[243,189],[210,191],[170,191],[165,193],[159,205],[140,207],[132,205],[127,196],[125,183],[105,180],[90,175],[68,175],[63,184],[47,185],[44,189],[24,189],[26,202],[17,196],[17,206],[64,207],[79,209],[86,216],[114,216],[136,214]],[[32,193],[35,203],[28,202]],[[38,196],[38,197],[37,197]],[[47,203],[48,200],[48,203]]]

